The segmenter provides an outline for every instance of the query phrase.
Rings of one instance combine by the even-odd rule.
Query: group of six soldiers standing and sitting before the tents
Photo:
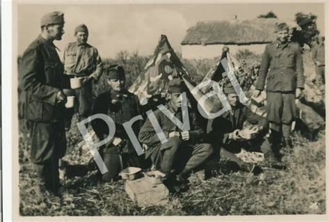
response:
[[[22,56],[19,77],[24,89],[24,118],[29,122],[31,134],[31,161],[38,178],[40,193],[61,195],[58,177],[58,161],[66,150],[65,129],[70,129],[74,110],[66,109],[68,95],[75,95],[79,119],[103,113],[116,125],[139,116],[141,113],[136,95],[125,87],[125,70],[111,65],[107,70],[109,90],[92,97],[92,86],[103,72],[97,49],[88,45],[88,29],[78,26],[74,35],[77,42],[65,47],[64,65],[56,52],[54,40],[61,40],[64,15],[48,13],[41,19],[41,33]],[[304,88],[304,68],[301,50],[297,43],[289,41],[289,28],[278,24],[276,42],[267,45],[262,58],[255,95],[260,95],[267,80],[267,118],[258,116],[239,102],[239,96],[231,84],[224,86],[223,93],[230,104],[230,111],[208,120],[203,130],[196,112],[189,108],[190,130],[182,131],[173,119],[162,111],[154,111],[155,119],[167,138],[161,143],[149,118],[136,121],[132,126],[139,141],[146,148],[143,155],[136,154],[134,145],[123,128],[116,127],[114,137],[100,149],[108,172],[100,175],[102,182],[118,179],[118,173],[127,166],[153,168],[166,175],[166,184],[175,190],[187,187],[187,178],[193,171],[212,169],[219,159],[233,161],[242,170],[256,172],[254,164],[239,159],[235,153],[241,148],[265,154],[267,166],[281,165],[276,150],[285,146],[292,148],[291,124],[297,118],[296,98]],[[84,77],[79,89],[70,88],[70,78]],[[180,79],[168,83],[166,108],[182,122],[182,96],[187,87]],[[146,117],[146,116],[145,116]],[[253,125],[254,134],[242,136],[244,122]],[[100,140],[109,134],[103,120],[95,119],[91,127]],[[271,131],[271,136],[267,134]]]

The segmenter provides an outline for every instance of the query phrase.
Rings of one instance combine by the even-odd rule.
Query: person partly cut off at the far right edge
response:
[[[324,36],[317,36],[317,44],[312,49],[312,58],[315,64],[315,72],[316,72],[316,84],[324,85]]]

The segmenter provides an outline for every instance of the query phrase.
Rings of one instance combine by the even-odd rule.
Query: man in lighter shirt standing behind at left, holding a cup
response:
[[[78,89],[70,90],[71,95],[75,95],[75,100],[79,113],[79,120],[88,118],[91,114],[92,104],[92,80],[96,82],[100,79],[103,65],[101,58],[95,47],[87,43],[88,29],[84,24],[80,24],[74,29],[76,42],[70,42],[64,51],[64,72],[71,78],[85,77],[83,86]],[[71,125],[74,108],[68,109],[65,129],[69,130]]]

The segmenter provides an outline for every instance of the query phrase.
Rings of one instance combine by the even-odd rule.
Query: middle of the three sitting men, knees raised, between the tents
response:
[[[184,92],[184,85],[180,79],[173,79],[168,84],[168,99],[166,105],[173,118],[182,122],[181,94]],[[190,130],[182,131],[175,125],[173,118],[166,116],[163,111],[157,109],[154,112],[159,126],[162,128],[167,142],[161,143],[153,125],[148,118],[139,133],[139,141],[148,145],[146,158],[150,157],[152,164],[166,174],[168,179],[178,175],[178,180],[184,184],[187,177],[196,167],[201,166],[213,152],[212,146],[208,143],[201,143],[203,130],[198,126],[196,115],[189,111]],[[170,180],[172,181],[172,180]],[[180,186],[179,186],[180,187]]]

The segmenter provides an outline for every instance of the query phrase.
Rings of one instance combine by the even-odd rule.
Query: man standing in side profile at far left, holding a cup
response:
[[[29,122],[31,161],[38,177],[39,195],[58,194],[58,159],[64,156],[64,129],[68,77],[58,57],[54,40],[64,33],[64,15],[53,12],[41,19],[41,34],[24,51],[19,82],[25,94],[24,118]]]

